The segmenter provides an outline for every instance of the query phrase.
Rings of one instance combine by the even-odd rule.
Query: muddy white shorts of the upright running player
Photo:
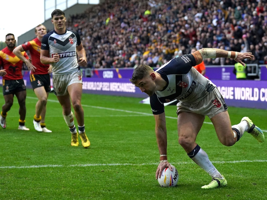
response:
[[[73,83],[82,84],[81,70],[74,71],[70,74],[53,75],[54,94],[64,96],[68,94],[68,86]]]

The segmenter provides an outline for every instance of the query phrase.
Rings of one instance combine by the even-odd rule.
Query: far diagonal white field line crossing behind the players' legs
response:
[[[27,98],[29,99],[37,99],[37,97],[31,97],[31,96],[27,96]],[[48,99],[47,101],[50,101],[50,102],[55,102],[55,103],[59,103],[57,100],[50,100]],[[113,108],[105,108],[105,107],[100,107],[100,106],[90,106],[90,105],[85,105],[85,104],[82,104],[83,107],[88,107],[88,108],[96,108],[96,109],[106,109],[106,110],[112,110],[112,111],[119,111],[119,112],[125,112],[125,113],[135,113],[135,114],[138,114],[138,115],[141,115],[141,116],[153,116],[152,113],[141,113],[141,112],[135,112],[135,111],[131,111],[131,110],[121,110],[121,109],[113,109]],[[128,115],[129,117],[138,117],[138,115]],[[54,116],[55,117],[55,116]],[[97,117],[97,116],[95,116]],[[116,117],[116,115],[112,115],[112,117]],[[121,116],[119,116],[121,117]],[[123,117],[127,117],[127,116],[123,116]],[[166,116],[166,118],[169,118],[169,119],[176,119],[177,120],[177,117],[169,117],[169,116]],[[204,121],[204,124],[212,124],[212,122],[206,122]],[[262,130],[263,132],[267,132],[267,130]]]

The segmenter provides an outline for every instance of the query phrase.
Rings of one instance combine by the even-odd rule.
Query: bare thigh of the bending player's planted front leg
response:
[[[205,117],[191,112],[179,112],[177,118],[177,129],[179,138],[195,141]]]

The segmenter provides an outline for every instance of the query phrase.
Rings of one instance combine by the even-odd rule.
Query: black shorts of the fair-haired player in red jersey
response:
[[[50,75],[49,74],[30,74],[30,81],[33,89],[44,87],[46,92],[50,92]]]

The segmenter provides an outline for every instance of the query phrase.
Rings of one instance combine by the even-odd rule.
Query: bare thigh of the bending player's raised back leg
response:
[[[228,111],[226,110],[221,113],[218,113],[217,115],[211,118],[211,121],[220,142],[228,146],[228,143],[231,143],[234,139]]]

